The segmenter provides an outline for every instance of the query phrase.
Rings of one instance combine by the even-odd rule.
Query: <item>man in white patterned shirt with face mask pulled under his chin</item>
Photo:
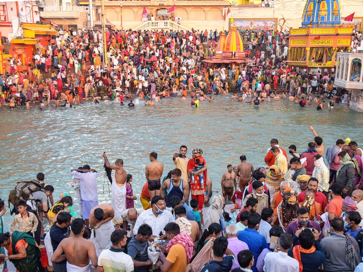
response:
[[[137,218],[134,233],[137,233],[142,224],[148,224],[152,227],[152,235],[149,239],[150,242],[153,242],[155,237],[158,237],[159,240],[166,239],[164,227],[167,223],[174,222],[175,219],[171,212],[167,211],[165,207],[164,198],[160,195],[155,195],[155,197],[151,199],[151,209],[144,211]]]

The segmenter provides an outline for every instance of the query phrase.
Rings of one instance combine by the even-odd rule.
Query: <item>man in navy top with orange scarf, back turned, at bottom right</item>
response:
[[[299,272],[317,271],[325,260],[325,254],[319,243],[321,232],[313,229],[301,228],[296,231],[293,239],[299,240],[300,244],[290,248],[287,255],[299,262]]]

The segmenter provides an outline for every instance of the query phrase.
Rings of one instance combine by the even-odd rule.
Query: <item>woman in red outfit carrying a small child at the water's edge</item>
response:
[[[204,204],[204,192],[205,192],[205,183],[203,186],[200,185],[199,176],[197,172],[193,172],[195,168],[195,149],[192,151],[192,158],[188,161],[187,165],[187,173],[190,180],[190,174],[192,173],[194,176],[194,183],[190,183],[190,191],[192,194],[192,199],[195,198],[198,201],[198,211],[203,209]],[[203,172],[204,180],[207,181],[207,164],[203,166],[202,169],[199,170],[200,172]]]

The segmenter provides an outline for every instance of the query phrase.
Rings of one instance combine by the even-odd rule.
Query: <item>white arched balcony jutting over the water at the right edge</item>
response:
[[[363,90],[363,53],[337,53],[334,84],[347,90]]]

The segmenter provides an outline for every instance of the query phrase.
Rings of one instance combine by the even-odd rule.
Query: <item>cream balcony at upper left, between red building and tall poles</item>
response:
[[[46,19],[79,18],[80,13],[88,13],[88,9],[82,6],[45,6],[40,15]]]

